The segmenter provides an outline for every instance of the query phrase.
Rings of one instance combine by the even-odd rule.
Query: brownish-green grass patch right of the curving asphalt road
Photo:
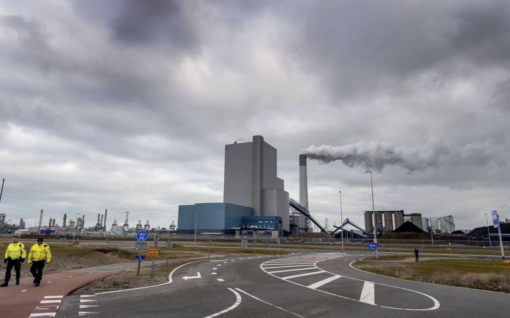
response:
[[[421,262],[380,262],[380,258],[372,258],[356,262],[354,267],[407,280],[510,293],[510,265],[502,260],[420,259]]]

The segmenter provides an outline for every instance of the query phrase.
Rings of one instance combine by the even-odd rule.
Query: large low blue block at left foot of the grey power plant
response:
[[[197,203],[179,206],[177,234],[224,233],[239,228],[243,217],[251,217],[253,209],[230,203]],[[195,224],[196,220],[196,224]]]

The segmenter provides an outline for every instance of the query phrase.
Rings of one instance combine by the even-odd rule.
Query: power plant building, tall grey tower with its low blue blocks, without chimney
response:
[[[289,231],[289,193],[276,176],[276,149],[262,136],[225,145],[222,203],[179,206],[177,233],[230,233],[235,229]]]

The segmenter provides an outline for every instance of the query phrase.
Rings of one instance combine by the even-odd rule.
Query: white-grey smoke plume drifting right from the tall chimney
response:
[[[421,147],[395,147],[392,142],[369,141],[350,143],[334,147],[323,144],[301,150],[310,159],[322,163],[341,160],[349,167],[364,166],[381,172],[386,165],[396,165],[409,172],[423,171],[430,167],[447,164],[486,165],[494,161],[506,165],[506,160],[497,158],[494,140],[467,144],[463,148],[447,147],[444,144],[425,144]]]

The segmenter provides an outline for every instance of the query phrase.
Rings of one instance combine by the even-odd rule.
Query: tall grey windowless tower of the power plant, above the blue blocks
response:
[[[250,207],[254,217],[282,217],[289,230],[289,192],[276,176],[276,149],[264,137],[225,145],[223,202]]]

